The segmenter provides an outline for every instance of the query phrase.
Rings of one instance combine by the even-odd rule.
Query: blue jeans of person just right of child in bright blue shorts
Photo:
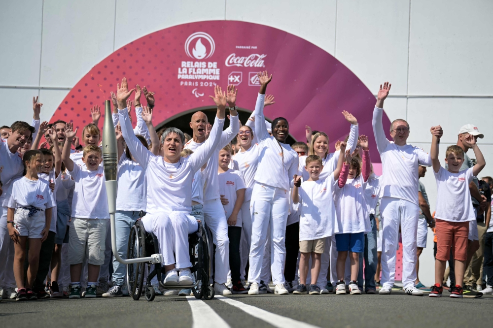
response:
[[[371,230],[365,234],[365,249],[359,253],[358,287],[363,289],[363,259],[365,261],[365,291],[376,289],[375,272],[377,272],[377,223],[370,214]]]

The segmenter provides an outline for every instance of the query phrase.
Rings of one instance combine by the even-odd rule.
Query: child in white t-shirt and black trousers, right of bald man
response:
[[[228,220],[229,266],[233,294],[245,294],[248,291],[240,280],[240,242],[242,237],[241,208],[245,199],[245,181],[239,171],[229,169],[231,162],[231,146],[226,145],[219,151],[219,167],[217,169],[219,194]]]

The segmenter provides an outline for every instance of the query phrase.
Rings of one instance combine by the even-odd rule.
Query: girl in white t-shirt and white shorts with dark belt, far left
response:
[[[38,178],[38,172],[44,166],[43,154],[38,150],[29,150],[24,154],[23,163],[24,176],[14,180],[8,190],[7,228],[14,241],[16,300],[32,300],[37,299],[31,287],[38,270],[41,243],[48,237],[55,200],[49,182]],[[27,283],[24,284],[28,238],[29,267]]]

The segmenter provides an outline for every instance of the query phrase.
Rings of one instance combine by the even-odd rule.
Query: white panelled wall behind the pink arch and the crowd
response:
[[[407,119],[410,143],[425,150],[430,126],[444,128],[444,152],[460,126],[474,123],[485,133],[481,149],[493,163],[492,14],[491,0],[4,1],[0,125],[30,122],[32,96],[40,97],[42,119],[49,119],[92,66],[145,34],[187,22],[241,20],[313,42],[374,93],[391,81],[387,115]],[[493,164],[483,175],[493,175]],[[423,182],[433,209],[431,171]],[[421,278],[430,285],[431,233],[428,239]]]

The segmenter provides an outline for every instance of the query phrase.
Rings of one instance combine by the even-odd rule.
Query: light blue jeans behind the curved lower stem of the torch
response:
[[[122,259],[127,259],[128,236],[130,229],[139,219],[140,211],[116,211],[115,228],[116,228],[116,249]],[[113,283],[123,286],[125,283],[126,266],[113,257]]]

